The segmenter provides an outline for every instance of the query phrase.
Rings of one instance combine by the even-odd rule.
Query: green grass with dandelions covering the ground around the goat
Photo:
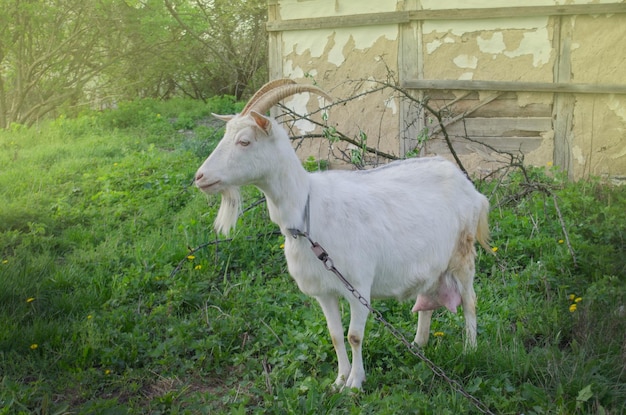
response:
[[[0,414],[478,413],[375,321],[364,391],[332,390],[323,314],[264,205],[218,241],[219,198],[191,185],[221,137],[205,117],[237,108],[137,101],[0,131]],[[626,189],[530,173],[574,257],[551,196],[481,184],[497,255],[477,264],[478,350],[438,311],[424,353],[495,413],[624,413]],[[374,306],[413,337],[410,304]]]

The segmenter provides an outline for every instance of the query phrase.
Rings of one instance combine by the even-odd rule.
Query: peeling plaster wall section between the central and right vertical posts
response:
[[[422,26],[423,76],[425,79],[446,80],[552,82],[557,59],[553,47],[553,25],[553,20],[548,17],[425,22]],[[452,94],[462,97],[466,92],[452,91]],[[487,148],[467,143],[461,139],[465,134],[473,140],[486,142],[501,150],[516,152],[518,148],[524,149],[525,160],[530,164],[546,165],[552,162],[552,127],[547,127],[545,131],[536,131],[532,137],[528,132],[509,133],[516,129],[513,126],[515,118],[507,121],[502,117],[547,119],[551,116],[553,94],[517,93],[514,98],[515,103],[510,99],[497,100],[496,105],[506,102],[508,108],[502,108],[500,114],[494,113],[482,118],[484,124],[499,122],[501,137],[509,143],[493,137],[488,125],[478,124],[472,129],[473,124],[459,122],[458,124],[464,124],[463,128],[458,129],[454,125],[448,128],[449,133],[458,134],[453,137],[457,138],[453,142],[466,168],[476,173],[488,173],[492,168],[497,168],[493,161],[502,158]],[[437,101],[438,107],[443,107],[446,101],[451,100]],[[479,95],[476,104],[480,100]],[[529,113],[526,109],[529,104],[545,106],[542,112]],[[455,110],[453,107],[451,111],[454,112],[453,115],[457,115],[467,109],[465,107]],[[467,115],[474,116],[480,118],[482,114],[478,111]],[[507,122],[511,124],[510,127]],[[441,138],[428,144],[425,153],[449,155]]]

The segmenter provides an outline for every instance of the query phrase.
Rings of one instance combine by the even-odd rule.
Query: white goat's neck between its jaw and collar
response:
[[[258,187],[265,194],[272,222],[283,232],[296,228],[304,231],[304,210],[309,197],[309,173],[295,156],[275,169]]]

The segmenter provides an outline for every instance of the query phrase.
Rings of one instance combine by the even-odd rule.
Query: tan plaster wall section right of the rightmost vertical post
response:
[[[573,18],[572,79],[626,83],[626,15]],[[576,95],[572,169],[626,178],[626,95]]]

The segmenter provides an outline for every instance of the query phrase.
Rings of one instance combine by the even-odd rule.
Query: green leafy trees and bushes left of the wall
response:
[[[240,98],[266,77],[263,0],[0,0],[0,128],[137,97]]]

